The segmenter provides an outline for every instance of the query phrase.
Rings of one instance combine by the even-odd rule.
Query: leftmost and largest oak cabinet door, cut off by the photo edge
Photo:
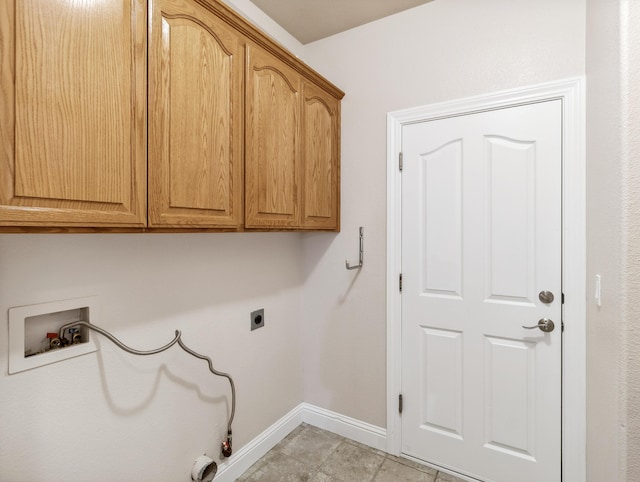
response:
[[[146,2],[0,4],[0,226],[144,226]]]

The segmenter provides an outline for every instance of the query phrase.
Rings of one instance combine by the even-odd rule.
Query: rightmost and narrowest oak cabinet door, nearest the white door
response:
[[[340,101],[304,84],[302,227],[340,229]]]

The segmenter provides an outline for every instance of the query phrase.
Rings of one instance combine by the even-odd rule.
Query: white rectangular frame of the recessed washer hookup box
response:
[[[98,297],[76,298],[73,300],[54,301],[37,305],[18,306],[9,308],[9,374],[30,370],[31,368],[48,365],[67,358],[73,358],[97,350],[93,338],[89,335],[87,342],[71,345],[59,350],[50,350],[34,356],[25,356],[25,324],[27,318],[61,311],[82,310],[87,313],[91,323],[99,323]],[[75,321],[75,320],[73,320]],[[62,326],[62,325],[60,325]],[[89,330],[87,330],[88,332]],[[45,333],[43,333],[44,335]]]

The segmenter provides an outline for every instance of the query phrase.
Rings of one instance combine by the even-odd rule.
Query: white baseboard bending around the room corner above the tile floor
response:
[[[219,464],[214,480],[233,482],[303,422],[378,450],[386,451],[387,448],[385,429],[315,405],[301,403]]]

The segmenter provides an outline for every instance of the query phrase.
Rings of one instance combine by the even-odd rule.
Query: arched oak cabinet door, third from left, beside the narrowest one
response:
[[[245,225],[300,224],[302,81],[284,62],[247,47]]]

